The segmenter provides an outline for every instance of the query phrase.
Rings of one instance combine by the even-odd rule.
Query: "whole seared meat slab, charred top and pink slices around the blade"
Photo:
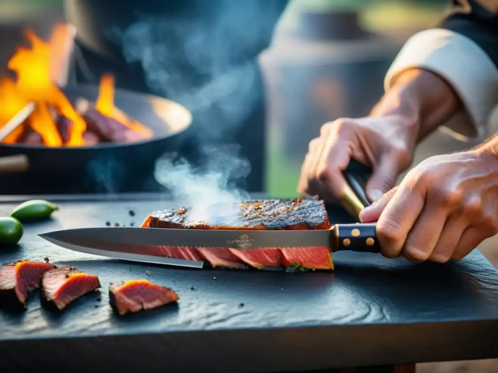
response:
[[[233,230],[318,230],[329,229],[325,204],[318,199],[275,199],[213,204],[207,208],[205,221],[193,219],[191,209],[155,211],[141,224],[142,228],[233,229]],[[230,211],[230,216],[226,215]],[[234,213],[235,212],[235,213]],[[194,214],[195,215],[195,214]],[[300,266],[307,269],[333,270],[327,247],[256,248],[238,250],[226,247],[166,247],[161,256],[205,260],[213,267],[257,269]]]

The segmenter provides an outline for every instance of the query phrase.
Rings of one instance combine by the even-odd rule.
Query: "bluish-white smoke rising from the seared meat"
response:
[[[198,139],[227,143],[261,99],[254,89],[256,55],[269,42],[282,3],[217,0],[204,10],[211,12],[209,21],[141,14],[137,22],[112,29],[110,35],[128,62],[141,63],[153,93],[192,112]],[[201,150],[205,164],[197,169],[185,160],[174,161],[176,154],[165,154],[156,164],[156,180],[190,206],[248,198],[236,187],[250,170],[240,147]]]

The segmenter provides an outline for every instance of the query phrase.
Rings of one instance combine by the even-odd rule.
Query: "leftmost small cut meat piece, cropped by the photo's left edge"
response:
[[[29,292],[40,287],[43,274],[55,268],[44,262],[21,260],[0,267],[0,302],[25,306]]]

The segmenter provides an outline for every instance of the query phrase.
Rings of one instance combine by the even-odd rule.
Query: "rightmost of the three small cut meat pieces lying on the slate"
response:
[[[180,297],[168,287],[147,280],[131,280],[109,286],[109,301],[119,314],[157,308]]]

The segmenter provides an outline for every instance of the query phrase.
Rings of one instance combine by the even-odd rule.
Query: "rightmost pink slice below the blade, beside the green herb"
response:
[[[286,247],[280,249],[282,265],[291,267],[298,265],[316,270],[333,270],[332,255],[325,246]]]

